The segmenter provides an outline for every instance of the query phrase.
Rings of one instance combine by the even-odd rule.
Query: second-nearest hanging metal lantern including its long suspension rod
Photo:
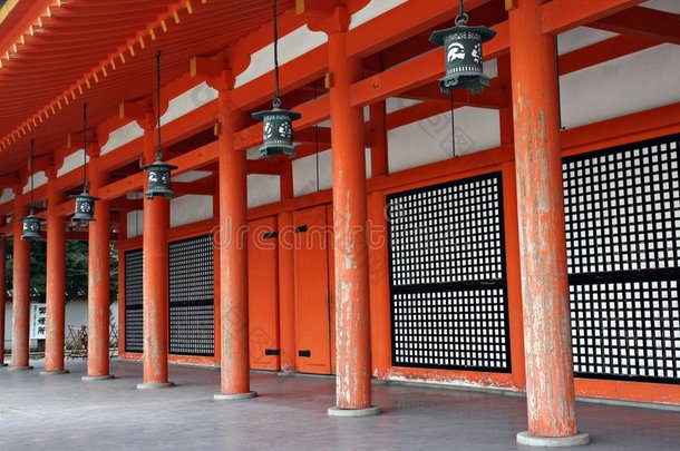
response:
[[[281,109],[281,98],[279,97],[279,27],[276,22],[276,0],[274,0],[274,101],[270,110],[254,112],[253,119],[262,120],[262,140],[260,154],[266,158],[274,155],[295,156],[293,146],[293,120],[300,119],[301,114]]]

